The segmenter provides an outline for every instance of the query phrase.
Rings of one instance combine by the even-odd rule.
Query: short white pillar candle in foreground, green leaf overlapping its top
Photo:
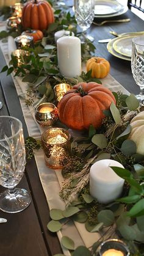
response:
[[[124,180],[110,168],[122,164],[112,159],[99,160],[90,168],[90,194],[99,203],[109,203],[120,197],[123,191]]]

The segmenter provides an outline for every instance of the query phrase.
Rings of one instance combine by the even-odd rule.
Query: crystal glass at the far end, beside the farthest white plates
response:
[[[95,1],[94,0],[74,0],[74,16],[77,24],[81,27],[84,34],[88,27],[91,26],[95,16]],[[85,35],[90,41],[94,38],[90,35]]]

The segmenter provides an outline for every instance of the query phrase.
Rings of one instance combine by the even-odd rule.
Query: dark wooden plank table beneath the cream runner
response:
[[[105,57],[111,64],[111,75],[117,79],[129,92],[138,93],[131,74],[131,62],[118,59],[108,53],[106,43],[98,43],[99,39],[113,37],[109,31],[134,32],[144,30],[144,21],[129,10],[120,18],[131,18],[129,23],[109,23],[101,27],[92,26],[88,32],[95,37],[96,56]],[[5,60],[0,51],[0,70]],[[12,115],[23,122],[24,136],[27,137],[27,128],[24,122],[20,101],[16,94],[11,76],[1,73],[0,100],[4,104],[0,115]],[[26,172],[18,185],[31,192],[31,205],[21,213],[8,214],[0,211],[0,217],[6,218],[7,223],[0,224],[0,256],[48,256],[62,252],[57,235],[50,233],[48,224],[49,208],[43,188],[38,177],[35,160],[27,163]],[[0,187],[0,192],[4,188]]]

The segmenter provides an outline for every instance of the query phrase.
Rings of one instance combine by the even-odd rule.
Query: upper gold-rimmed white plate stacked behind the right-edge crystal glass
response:
[[[123,56],[131,57],[132,38],[134,37],[137,37],[137,35],[125,35],[123,37],[117,38],[117,40],[113,42],[113,49]]]

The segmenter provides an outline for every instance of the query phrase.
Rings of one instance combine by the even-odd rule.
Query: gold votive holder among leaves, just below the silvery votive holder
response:
[[[12,52],[12,57],[15,57],[17,60],[18,67],[22,64],[26,64],[29,59],[29,51],[24,51],[24,49],[16,49]]]

